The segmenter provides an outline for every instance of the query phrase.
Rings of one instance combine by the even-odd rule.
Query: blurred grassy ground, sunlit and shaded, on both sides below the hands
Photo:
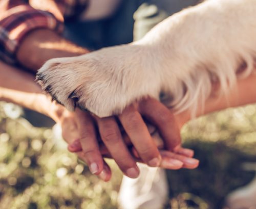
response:
[[[256,106],[201,117],[182,137],[200,166],[167,171],[166,208],[222,208],[230,191],[254,177]],[[0,208],[118,208],[122,175],[114,162],[111,182],[103,182],[57,138],[32,126],[19,107],[0,103]]]

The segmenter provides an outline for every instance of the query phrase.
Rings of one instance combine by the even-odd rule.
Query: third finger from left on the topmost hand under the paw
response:
[[[143,162],[148,166],[159,166],[161,156],[140,113],[134,106],[129,106],[119,116],[119,119]]]

